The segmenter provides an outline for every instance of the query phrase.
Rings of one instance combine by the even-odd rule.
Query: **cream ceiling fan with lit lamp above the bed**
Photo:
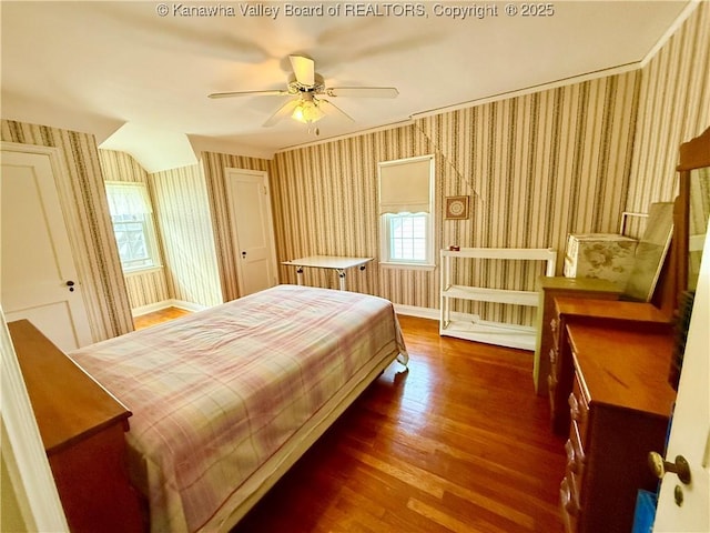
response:
[[[394,87],[339,87],[326,88],[323,77],[315,71],[315,62],[304,56],[288,56],[293,74],[286,89],[264,91],[213,92],[209,98],[231,97],[295,97],[281,105],[264,127],[274,125],[285,117],[312,124],[332,114],[353,121],[345,111],[323,97],[396,98],[399,91]]]

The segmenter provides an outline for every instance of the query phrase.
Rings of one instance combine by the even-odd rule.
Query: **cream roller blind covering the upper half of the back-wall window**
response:
[[[428,213],[432,158],[381,163],[379,214]]]

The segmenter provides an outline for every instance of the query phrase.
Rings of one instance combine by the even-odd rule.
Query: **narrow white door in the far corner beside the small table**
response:
[[[226,169],[240,295],[274,286],[276,248],[266,172]]]

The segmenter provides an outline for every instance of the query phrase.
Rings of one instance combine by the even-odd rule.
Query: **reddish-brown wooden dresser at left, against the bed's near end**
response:
[[[125,466],[131,412],[29,321],[8,328],[70,530],[144,531]]]

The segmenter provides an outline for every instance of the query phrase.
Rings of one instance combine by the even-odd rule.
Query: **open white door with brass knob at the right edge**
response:
[[[655,533],[710,532],[710,232],[700,263],[700,279],[690,316],[667,462],[683,456],[690,483],[666,472],[656,513]],[[678,504],[677,499],[682,497]]]

